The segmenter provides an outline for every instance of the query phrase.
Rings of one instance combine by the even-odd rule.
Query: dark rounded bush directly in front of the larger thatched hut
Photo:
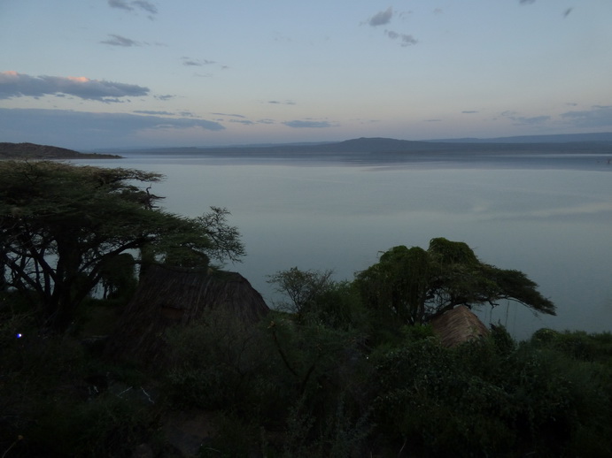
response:
[[[277,385],[271,374],[280,362],[260,327],[246,327],[218,310],[169,330],[166,338],[173,364],[165,391],[174,405],[273,414]]]

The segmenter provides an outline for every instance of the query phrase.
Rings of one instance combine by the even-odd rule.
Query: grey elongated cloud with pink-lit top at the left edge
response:
[[[74,95],[84,100],[120,102],[120,97],[148,95],[149,88],[106,80],[89,80],[84,76],[30,76],[17,72],[0,73],[0,99]]]

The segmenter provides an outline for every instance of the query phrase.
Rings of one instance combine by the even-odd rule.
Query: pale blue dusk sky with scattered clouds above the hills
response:
[[[610,0],[0,0],[0,141],[612,131]]]

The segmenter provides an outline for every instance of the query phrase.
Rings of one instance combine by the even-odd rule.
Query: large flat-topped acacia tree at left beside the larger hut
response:
[[[140,262],[206,266],[236,261],[240,234],[213,207],[198,218],[159,210],[150,187],[159,173],[58,162],[0,162],[0,266],[7,287],[66,329],[75,309],[129,252]]]

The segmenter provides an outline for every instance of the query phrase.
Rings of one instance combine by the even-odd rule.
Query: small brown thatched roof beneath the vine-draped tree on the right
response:
[[[445,311],[431,320],[434,332],[438,334],[445,347],[454,347],[468,340],[478,339],[489,334],[482,321],[464,305]]]

